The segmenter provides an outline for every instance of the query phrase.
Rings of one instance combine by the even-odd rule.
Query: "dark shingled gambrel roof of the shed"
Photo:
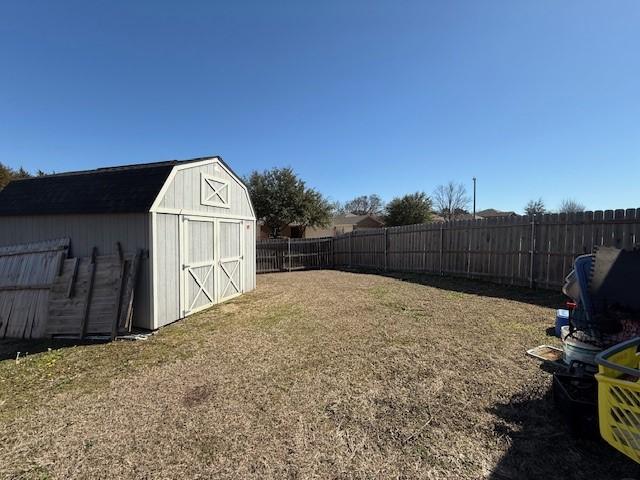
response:
[[[176,165],[212,158],[231,171],[200,157],[14,180],[0,191],[0,215],[145,213]]]

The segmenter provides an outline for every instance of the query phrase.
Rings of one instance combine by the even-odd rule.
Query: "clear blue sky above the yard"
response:
[[[222,155],[337,200],[640,206],[640,2],[8,1],[0,161]]]

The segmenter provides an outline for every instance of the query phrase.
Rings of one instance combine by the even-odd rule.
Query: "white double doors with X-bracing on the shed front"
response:
[[[183,315],[242,293],[241,226],[236,220],[181,216]]]

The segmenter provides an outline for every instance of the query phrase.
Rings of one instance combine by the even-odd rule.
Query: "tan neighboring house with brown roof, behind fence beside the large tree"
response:
[[[258,239],[264,240],[269,238],[271,232],[263,221],[258,221]],[[336,215],[331,218],[331,223],[325,228],[321,227],[302,227],[298,224],[291,223],[280,229],[281,238],[319,238],[333,237],[342,233],[349,233],[354,230],[367,230],[372,228],[383,228],[384,222],[375,215],[354,215],[348,213],[346,215]]]

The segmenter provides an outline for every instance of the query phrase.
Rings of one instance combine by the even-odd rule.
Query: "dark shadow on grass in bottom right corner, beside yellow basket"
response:
[[[604,440],[569,428],[550,390],[536,397],[516,395],[490,409],[498,417],[496,435],[511,446],[489,479],[640,479],[640,465]]]

